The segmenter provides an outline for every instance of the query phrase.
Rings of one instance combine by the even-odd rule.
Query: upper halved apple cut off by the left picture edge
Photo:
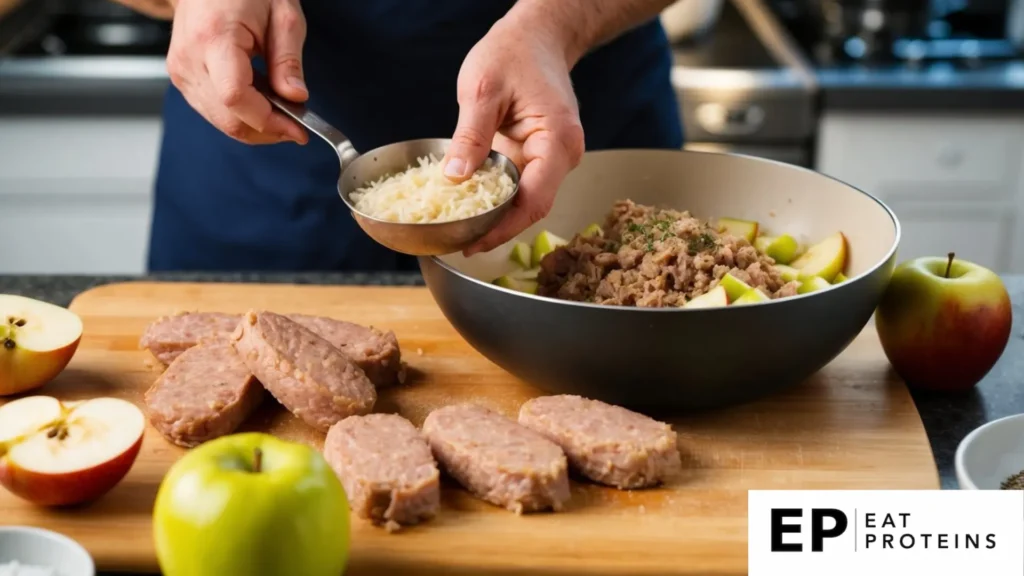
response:
[[[71,362],[82,319],[68,308],[0,294],[0,396],[37,388]]]

